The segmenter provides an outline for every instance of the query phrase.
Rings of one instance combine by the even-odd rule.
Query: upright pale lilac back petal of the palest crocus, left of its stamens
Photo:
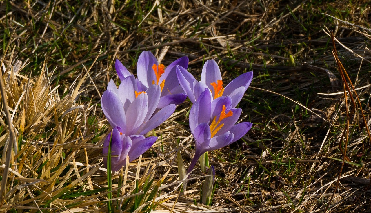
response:
[[[135,77],[130,75],[121,81],[118,87],[118,95],[124,105],[125,111],[135,99]]]

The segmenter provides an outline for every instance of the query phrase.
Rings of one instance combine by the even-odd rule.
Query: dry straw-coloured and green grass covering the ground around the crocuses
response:
[[[10,166],[0,212],[369,211],[370,9],[368,1],[0,1],[8,105],[0,173]],[[117,78],[114,59],[135,74],[142,50],[165,65],[187,55],[195,76],[213,58],[225,82],[254,70],[239,104],[253,129],[209,153],[218,175],[212,206],[199,204],[197,166],[186,190],[178,180],[176,151],[186,166],[194,153],[189,102],[109,188],[100,96]]]

